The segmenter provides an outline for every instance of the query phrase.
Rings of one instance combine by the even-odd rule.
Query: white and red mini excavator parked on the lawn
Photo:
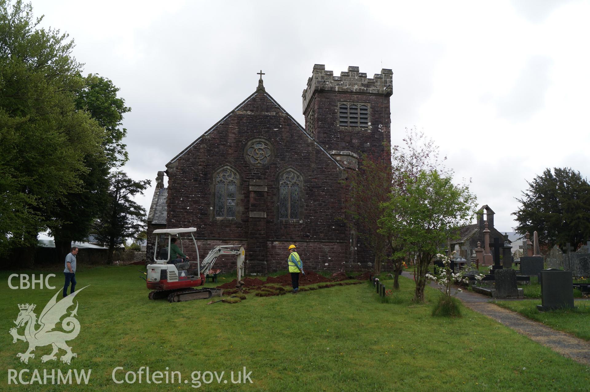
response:
[[[158,241],[154,246],[153,261],[155,263],[148,265],[148,276],[146,282],[149,289],[149,299],[168,298],[168,302],[192,301],[192,299],[207,299],[214,296],[221,297],[223,289],[218,288],[198,288],[205,284],[205,274],[213,267],[217,258],[221,255],[238,256],[238,282],[244,276],[244,246],[241,245],[219,245],[215,246],[207,257],[199,260],[199,248],[196,246],[195,228],[180,229],[158,229],[153,230],[156,236],[168,236],[168,247],[160,248],[158,251]],[[184,253],[182,246],[182,234],[190,234],[192,242],[196,249],[196,268],[191,269],[191,263],[183,259],[176,264],[170,263],[170,245],[173,236],[179,239],[181,251]],[[177,243],[178,243],[177,242]],[[239,285],[239,284],[238,284]]]

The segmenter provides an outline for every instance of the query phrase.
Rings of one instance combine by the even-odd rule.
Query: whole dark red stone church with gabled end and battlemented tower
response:
[[[361,154],[389,159],[392,71],[368,78],[348,67],[336,76],[314,65],[302,95],[304,126],[258,74],[250,96],[204,133],[195,129],[202,135],[158,172],[148,259],[153,230],[194,227],[201,259],[216,245],[243,245],[251,274],[284,270],[291,243],[310,270],[370,268],[373,254],[345,211],[346,179]],[[216,266],[228,271],[235,260]]]

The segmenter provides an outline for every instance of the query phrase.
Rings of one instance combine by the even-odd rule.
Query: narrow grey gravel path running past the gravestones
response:
[[[414,277],[409,272],[402,272],[402,276],[409,279],[413,279]],[[430,285],[437,287],[434,283]],[[456,297],[461,299],[466,307],[501,322],[506,327],[512,328],[519,334],[525,335],[531,340],[549,347],[551,350],[556,351],[556,353],[572,358],[572,360],[578,361],[579,363],[590,365],[590,342],[576,338],[566,332],[553,330],[517,312],[491,304],[489,302],[491,300],[490,297],[486,297],[485,295],[463,291],[457,293]]]

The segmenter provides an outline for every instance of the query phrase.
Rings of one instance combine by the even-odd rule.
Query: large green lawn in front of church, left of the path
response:
[[[206,300],[169,304],[149,301],[140,266],[80,266],[77,295],[80,335],[69,342],[78,353],[71,365],[41,363],[40,347],[28,365],[16,354],[25,342],[8,334],[17,304],[41,309],[58,290],[0,287],[0,390],[8,369],[92,369],[90,384],[76,390],[155,390],[154,384],[115,384],[116,367],[137,371],[179,371],[188,384],[161,384],[158,390],[192,390],[193,371],[251,371],[253,384],[203,385],[205,390],[251,391],[588,391],[587,366],[553,353],[483,315],[463,308],[459,319],[432,318],[439,295],[427,288],[428,304],[411,303],[414,282],[400,278],[395,300],[382,303],[369,284],[336,286],[297,295],[254,297],[238,304],[206,305]],[[58,271],[60,271],[58,269]],[[8,272],[1,272],[6,282]],[[59,286],[62,276],[51,279]],[[230,279],[231,276],[226,276]],[[385,281],[391,288],[392,281]],[[22,331],[20,328],[19,331]],[[22,332],[21,332],[22,334]],[[58,355],[63,355],[60,352]],[[29,376],[31,377],[31,375]],[[195,384],[196,386],[196,384]],[[27,386],[28,390],[73,390]]]

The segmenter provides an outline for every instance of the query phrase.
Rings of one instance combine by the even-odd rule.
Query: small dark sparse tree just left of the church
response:
[[[109,182],[109,200],[95,222],[95,232],[99,241],[109,246],[107,262],[111,264],[115,246],[128,238],[136,238],[145,229],[146,211],[133,197],[143,194],[151,182],[135,181],[124,172],[112,173]]]

